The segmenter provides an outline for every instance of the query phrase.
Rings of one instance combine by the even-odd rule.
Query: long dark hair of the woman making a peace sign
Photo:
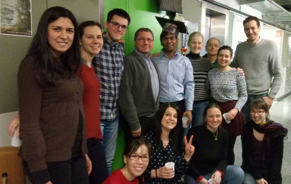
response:
[[[177,151],[178,148],[178,134],[182,127],[182,114],[176,104],[173,103],[163,103],[159,110],[155,114],[155,139],[156,142],[161,142],[161,134],[162,134],[162,117],[166,112],[168,107],[172,107],[177,111],[178,118],[177,118],[177,125],[170,131],[169,138],[173,141],[174,149]]]

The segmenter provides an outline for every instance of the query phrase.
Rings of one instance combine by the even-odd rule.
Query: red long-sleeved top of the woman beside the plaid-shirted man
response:
[[[86,137],[102,139],[100,128],[100,82],[94,68],[83,64],[81,80],[84,84],[83,106],[86,118]]]

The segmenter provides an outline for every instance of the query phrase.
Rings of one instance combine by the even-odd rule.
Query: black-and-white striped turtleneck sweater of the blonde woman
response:
[[[200,57],[199,54],[190,52],[186,55],[191,61],[193,67],[193,76],[195,82],[194,103],[205,102],[210,98],[210,91],[206,86],[207,74],[213,68],[211,62],[207,58]]]

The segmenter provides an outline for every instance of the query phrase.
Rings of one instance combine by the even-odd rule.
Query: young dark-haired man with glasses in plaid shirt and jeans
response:
[[[103,32],[103,47],[93,59],[96,75],[101,83],[100,124],[103,148],[109,174],[116,147],[118,129],[118,94],[123,72],[125,52],[118,41],[125,35],[130,17],[122,9],[113,9],[107,15],[106,32]]]

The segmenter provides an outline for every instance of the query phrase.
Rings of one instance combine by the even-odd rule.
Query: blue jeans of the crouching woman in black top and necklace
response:
[[[216,169],[215,169],[216,170]],[[207,180],[209,180],[212,176],[212,174],[215,172],[215,170],[209,174],[203,175],[203,177]],[[239,166],[227,166],[225,177],[222,179],[220,184],[242,184],[244,178],[244,172],[241,167]],[[184,177],[185,184],[199,184],[195,182],[194,178],[192,176],[186,175]]]

